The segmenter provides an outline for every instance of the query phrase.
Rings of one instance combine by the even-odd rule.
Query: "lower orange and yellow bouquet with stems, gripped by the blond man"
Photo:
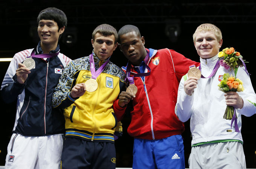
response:
[[[218,84],[218,87],[219,87],[219,90],[223,91],[224,93],[227,93],[229,91],[235,91],[235,92],[244,91],[243,82],[240,79],[232,75],[229,75],[229,73],[225,73],[223,75],[223,80]],[[223,118],[226,120],[232,120],[233,115],[234,115],[234,107],[227,106]]]

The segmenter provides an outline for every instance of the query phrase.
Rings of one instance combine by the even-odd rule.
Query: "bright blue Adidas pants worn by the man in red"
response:
[[[181,135],[158,140],[134,138],[133,169],[184,169]]]

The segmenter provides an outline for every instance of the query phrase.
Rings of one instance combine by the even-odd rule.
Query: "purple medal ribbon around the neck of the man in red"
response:
[[[150,75],[151,69],[148,66],[148,61],[149,61],[149,52],[147,51],[147,55],[146,55],[146,57],[144,59],[144,62],[145,62],[145,66],[146,66],[146,68],[148,69],[149,72],[137,73],[137,74],[134,74],[132,77],[130,77],[130,75],[131,75],[131,63],[130,63],[130,61],[128,61],[127,68],[126,68],[126,78],[125,78],[125,81],[129,82],[129,84],[134,84],[134,77],[141,77],[141,76],[148,76],[148,75]]]

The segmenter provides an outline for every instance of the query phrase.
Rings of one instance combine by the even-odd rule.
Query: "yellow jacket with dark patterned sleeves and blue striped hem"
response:
[[[93,58],[96,70],[105,63],[94,54]],[[125,73],[109,61],[96,79],[97,90],[85,91],[83,96],[72,98],[70,96],[72,88],[90,78],[89,56],[73,60],[68,64],[52,95],[53,108],[64,108],[66,137],[114,142],[113,134],[117,126],[117,118],[113,103],[122,88],[125,88]]]

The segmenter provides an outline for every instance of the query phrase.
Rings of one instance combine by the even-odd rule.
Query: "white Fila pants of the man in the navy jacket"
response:
[[[63,135],[28,137],[12,134],[6,169],[59,169]]]

